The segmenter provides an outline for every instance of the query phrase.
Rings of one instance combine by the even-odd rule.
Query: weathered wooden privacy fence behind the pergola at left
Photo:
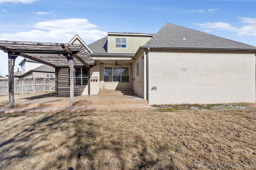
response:
[[[19,78],[14,80],[14,94],[55,92],[55,78]],[[9,80],[0,80],[0,95],[9,94]]]

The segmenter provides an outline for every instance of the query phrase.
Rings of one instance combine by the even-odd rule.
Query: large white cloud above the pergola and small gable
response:
[[[95,29],[97,25],[85,18],[44,21],[34,24],[36,29],[17,33],[0,33],[2,40],[39,41],[68,43],[78,34],[86,43],[91,43],[107,35],[106,31]]]

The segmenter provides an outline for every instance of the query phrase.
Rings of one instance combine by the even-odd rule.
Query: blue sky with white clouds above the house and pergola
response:
[[[156,33],[169,22],[256,46],[255,9],[255,0],[0,0],[0,39],[68,43],[78,34],[90,44],[107,32]],[[7,65],[1,51],[2,76]]]

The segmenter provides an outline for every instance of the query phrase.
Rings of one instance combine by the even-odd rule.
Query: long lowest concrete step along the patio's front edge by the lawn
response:
[[[153,111],[154,107],[146,104],[73,106],[73,107],[18,107],[2,109],[1,113],[38,113],[38,112],[94,112],[94,111]]]

